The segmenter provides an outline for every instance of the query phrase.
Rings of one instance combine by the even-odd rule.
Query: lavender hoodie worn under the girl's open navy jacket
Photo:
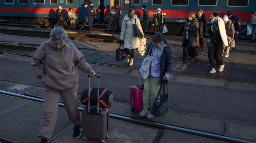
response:
[[[150,76],[156,80],[161,79],[160,62],[161,62],[161,56],[163,54],[165,46],[167,45],[164,43],[160,48],[156,48],[155,46],[153,46],[153,49],[152,49],[153,60],[150,67]],[[170,77],[170,74],[165,73],[165,76]]]

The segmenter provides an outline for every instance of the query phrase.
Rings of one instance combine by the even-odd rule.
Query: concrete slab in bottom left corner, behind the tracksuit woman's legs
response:
[[[20,99],[22,100],[22,99]],[[0,136],[19,142],[39,142],[43,104],[31,102],[0,117]],[[52,137],[71,125],[66,110],[58,108],[57,122]]]

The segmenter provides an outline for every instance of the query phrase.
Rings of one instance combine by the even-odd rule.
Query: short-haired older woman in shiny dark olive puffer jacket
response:
[[[185,21],[184,33],[182,37],[182,46],[183,46],[183,59],[180,63],[185,63],[188,50],[191,51],[191,62],[194,62],[196,49],[195,47],[188,47],[188,45],[193,45],[193,43],[189,43],[190,38],[195,38],[196,47],[199,45],[199,22],[196,19],[195,13],[191,12],[188,15],[188,18]]]

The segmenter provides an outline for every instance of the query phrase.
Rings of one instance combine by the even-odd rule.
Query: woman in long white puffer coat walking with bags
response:
[[[127,63],[130,62],[130,66],[133,66],[133,58],[134,58],[134,52],[135,49],[140,46],[140,38],[133,36],[133,25],[135,24],[140,29],[141,33],[143,34],[140,20],[137,18],[137,15],[135,15],[134,9],[129,9],[127,14],[124,17],[123,23],[122,23],[122,29],[121,29],[121,35],[120,39],[124,39],[124,48],[126,49],[126,54],[128,56]],[[143,34],[144,38],[144,34]],[[130,50],[131,49],[131,52]]]

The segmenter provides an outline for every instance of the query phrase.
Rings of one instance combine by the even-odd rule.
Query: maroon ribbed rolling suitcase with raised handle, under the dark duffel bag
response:
[[[98,78],[98,94],[100,97],[100,75],[95,75]],[[89,88],[90,89],[90,76],[89,76]],[[88,96],[90,97],[90,90],[88,90]],[[91,138],[105,142],[109,134],[109,110],[107,108],[100,108],[99,102],[97,107],[90,107],[90,100],[88,107],[85,107],[82,111],[82,136],[84,139]]]

